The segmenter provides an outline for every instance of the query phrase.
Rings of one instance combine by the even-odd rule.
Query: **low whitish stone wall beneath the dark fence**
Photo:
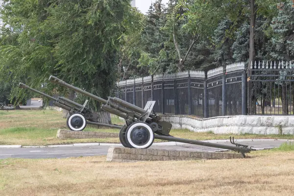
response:
[[[161,115],[172,123],[172,129],[189,129],[195,132],[213,131],[215,134],[293,134],[294,116],[220,116],[195,119],[188,116]],[[172,135],[172,133],[171,133]]]

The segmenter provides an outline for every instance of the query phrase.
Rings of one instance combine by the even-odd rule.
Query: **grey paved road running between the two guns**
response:
[[[258,141],[240,142],[253,148],[279,147],[286,141]],[[217,142],[218,144],[231,145],[229,142]],[[233,145],[232,145],[233,146]],[[72,146],[72,147],[29,147],[29,148],[0,148],[0,159],[4,158],[66,158],[78,156],[106,155],[110,146]],[[152,146],[154,149],[177,149],[193,151],[215,151],[222,150],[214,147],[203,147],[196,145],[176,146]]]

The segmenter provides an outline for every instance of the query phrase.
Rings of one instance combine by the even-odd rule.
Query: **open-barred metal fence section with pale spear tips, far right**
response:
[[[255,62],[248,76],[249,114],[294,114],[294,65],[291,61]]]

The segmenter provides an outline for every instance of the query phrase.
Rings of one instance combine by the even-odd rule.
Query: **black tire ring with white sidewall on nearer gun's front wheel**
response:
[[[134,144],[130,138],[130,135],[131,135],[131,132],[133,129],[135,129],[137,126],[143,126],[147,129],[147,131],[149,131],[149,134],[150,134],[150,138],[147,142],[147,144],[143,145],[143,146],[138,146],[136,144]],[[154,132],[152,131],[151,127],[149,126],[149,124],[145,123],[145,122],[142,122],[142,121],[138,121],[138,122],[135,122],[135,123],[132,123],[130,124],[126,131],[125,131],[125,142],[127,144],[127,146],[129,147],[133,147],[133,148],[148,148],[150,147],[153,142],[154,142]]]

